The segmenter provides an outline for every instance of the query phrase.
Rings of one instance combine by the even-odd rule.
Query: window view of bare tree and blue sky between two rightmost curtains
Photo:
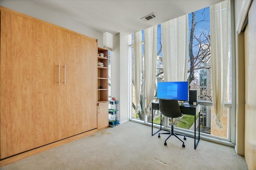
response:
[[[196,20],[197,16],[199,16],[199,19]],[[200,100],[211,102],[209,8],[192,12],[189,17],[191,18],[188,48],[189,89],[198,90],[200,92]],[[197,26],[202,24],[204,24],[204,27],[198,29]]]

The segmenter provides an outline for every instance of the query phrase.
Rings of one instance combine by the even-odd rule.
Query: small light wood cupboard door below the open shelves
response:
[[[108,102],[98,104],[98,129],[108,127]]]

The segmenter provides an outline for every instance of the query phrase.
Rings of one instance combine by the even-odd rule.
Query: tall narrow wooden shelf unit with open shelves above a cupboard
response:
[[[102,129],[108,127],[108,50],[98,47],[98,63],[98,129]]]

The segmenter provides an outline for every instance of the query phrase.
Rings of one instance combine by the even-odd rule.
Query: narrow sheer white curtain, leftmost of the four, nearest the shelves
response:
[[[133,37],[134,51],[134,88],[135,88],[135,113],[141,111],[140,91],[141,91],[141,69],[142,69],[142,33],[141,31],[134,33]]]

